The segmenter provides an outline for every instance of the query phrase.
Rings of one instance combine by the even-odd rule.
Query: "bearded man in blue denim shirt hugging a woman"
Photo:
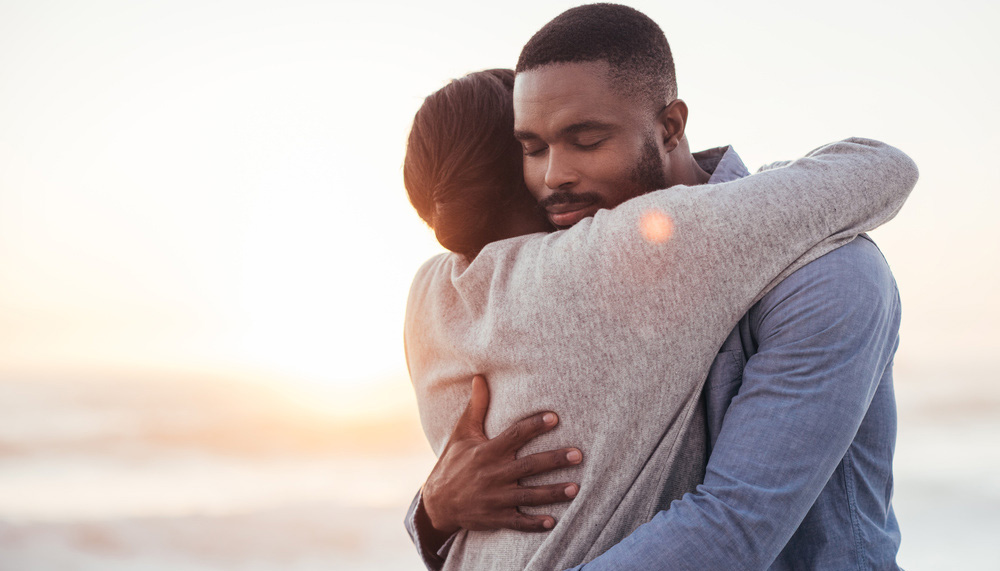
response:
[[[672,72],[659,28],[620,6],[570,10],[525,46],[517,136],[528,187],[554,224],[656,188],[748,174],[731,149],[688,151]],[[585,568],[894,568],[898,320],[891,274],[864,238],[778,284],[712,365],[704,484]],[[427,513],[449,496],[459,497],[426,494]]]

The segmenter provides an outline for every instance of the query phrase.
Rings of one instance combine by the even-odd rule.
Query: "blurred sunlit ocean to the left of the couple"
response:
[[[409,413],[409,411],[407,411]],[[351,424],[251,383],[0,381],[0,571],[422,569],[415,411]]]

